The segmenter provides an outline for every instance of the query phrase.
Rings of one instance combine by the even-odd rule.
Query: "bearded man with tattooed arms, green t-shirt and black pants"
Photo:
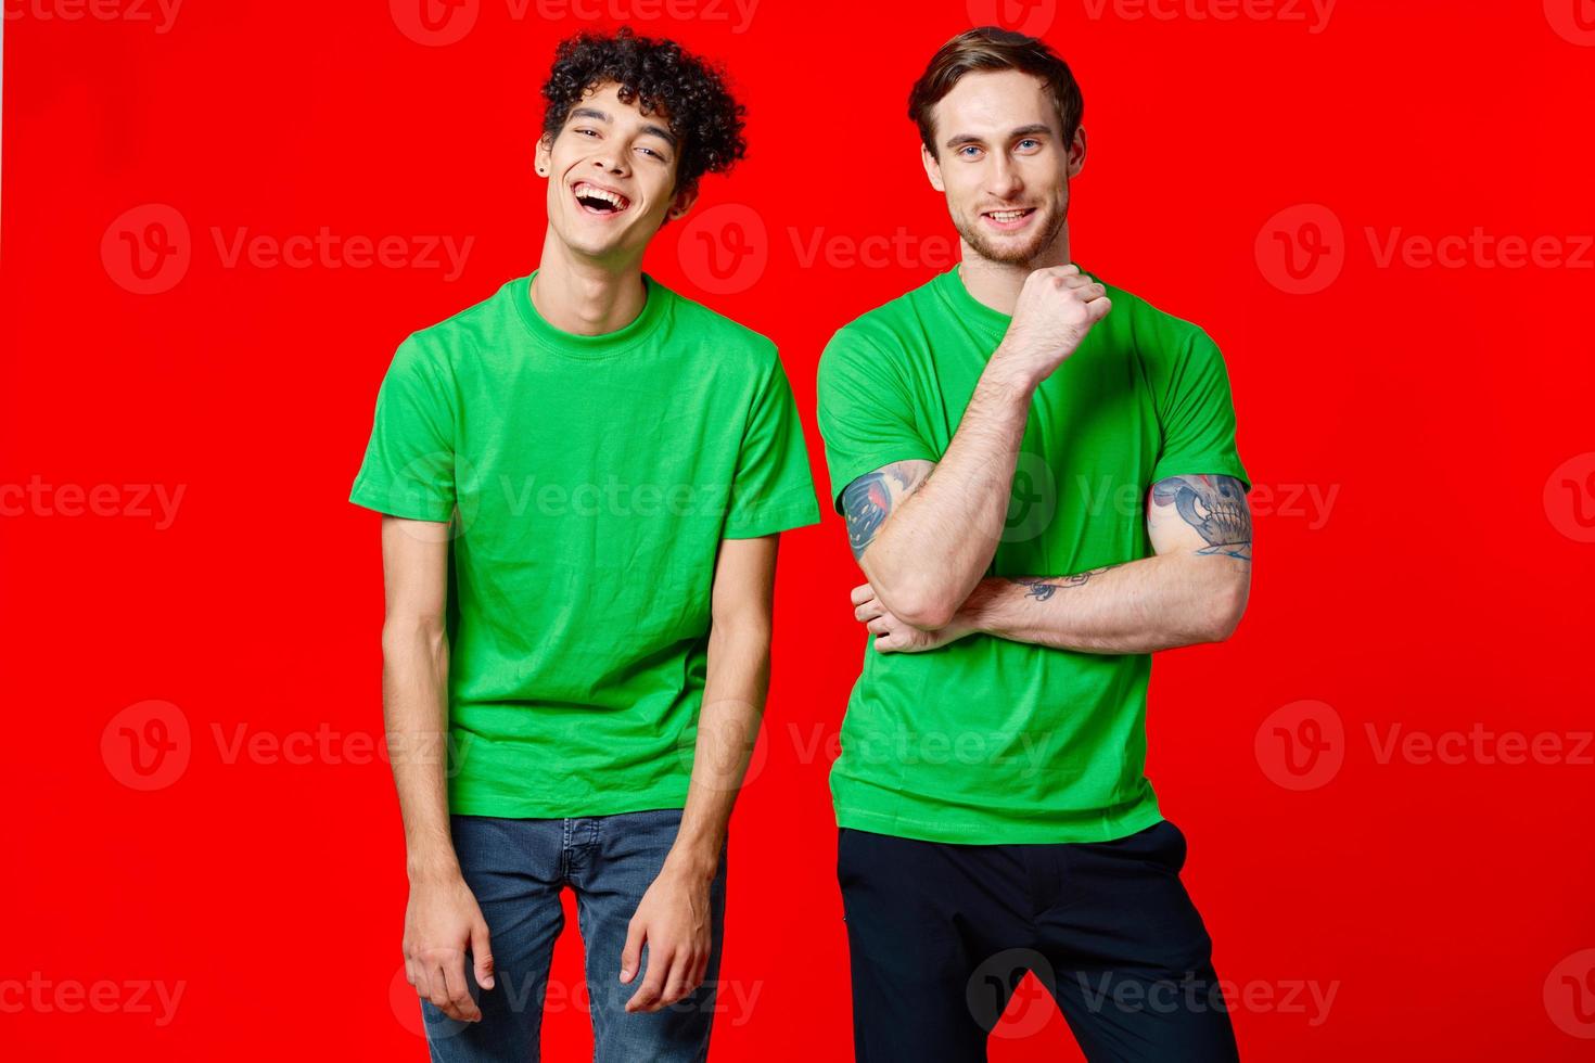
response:
[[[1233,1060],[1145,762],[1155,650],[1230,636],[1249,480],[1196,325],[1072,263],[1080,89],[978,29],[914,86],[962,263],[820,362],[872,634],[831,773],[857,1055],[965,1063],[1027,971],[1091,1060]]]

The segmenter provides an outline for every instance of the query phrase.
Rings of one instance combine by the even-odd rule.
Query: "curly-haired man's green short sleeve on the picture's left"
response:
[[[349,500],[418,521],[455,513],[455,416],[440,367],[415,336],[399,344]]]

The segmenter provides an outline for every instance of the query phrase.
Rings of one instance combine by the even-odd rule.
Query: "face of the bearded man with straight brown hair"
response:
[[[936,102],[936,153],[925,174],[947,196],[965,245],[981,258],[1029,265],[1069,217],[1069,180],[1085,164],[1086,135],[1064,142],[1043,81],[1021,70],[971,72]]]

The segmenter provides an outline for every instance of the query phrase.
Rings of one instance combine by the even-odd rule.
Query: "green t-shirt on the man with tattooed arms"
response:
[[[1247,483],[1223,359],[1201,328],[1107,285],[1112,312],[1035,392],[987,575],[1067,575],[1152,555],[1147,488]],[[849,324],[820,359],[831,497],[911,457],[939,461],[1010,317],[957,268]],[[864,649],[831,770],[837,822],[952,843],[1105,841],[1158,822],[1145,778],[1145,653],[975,634]]]

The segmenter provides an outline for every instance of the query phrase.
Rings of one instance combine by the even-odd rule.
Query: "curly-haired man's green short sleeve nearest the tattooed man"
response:
[[[798,403],[780,359],[772,354],[770,362],[742,435],[724,539],[756,539],[820,523]]]

